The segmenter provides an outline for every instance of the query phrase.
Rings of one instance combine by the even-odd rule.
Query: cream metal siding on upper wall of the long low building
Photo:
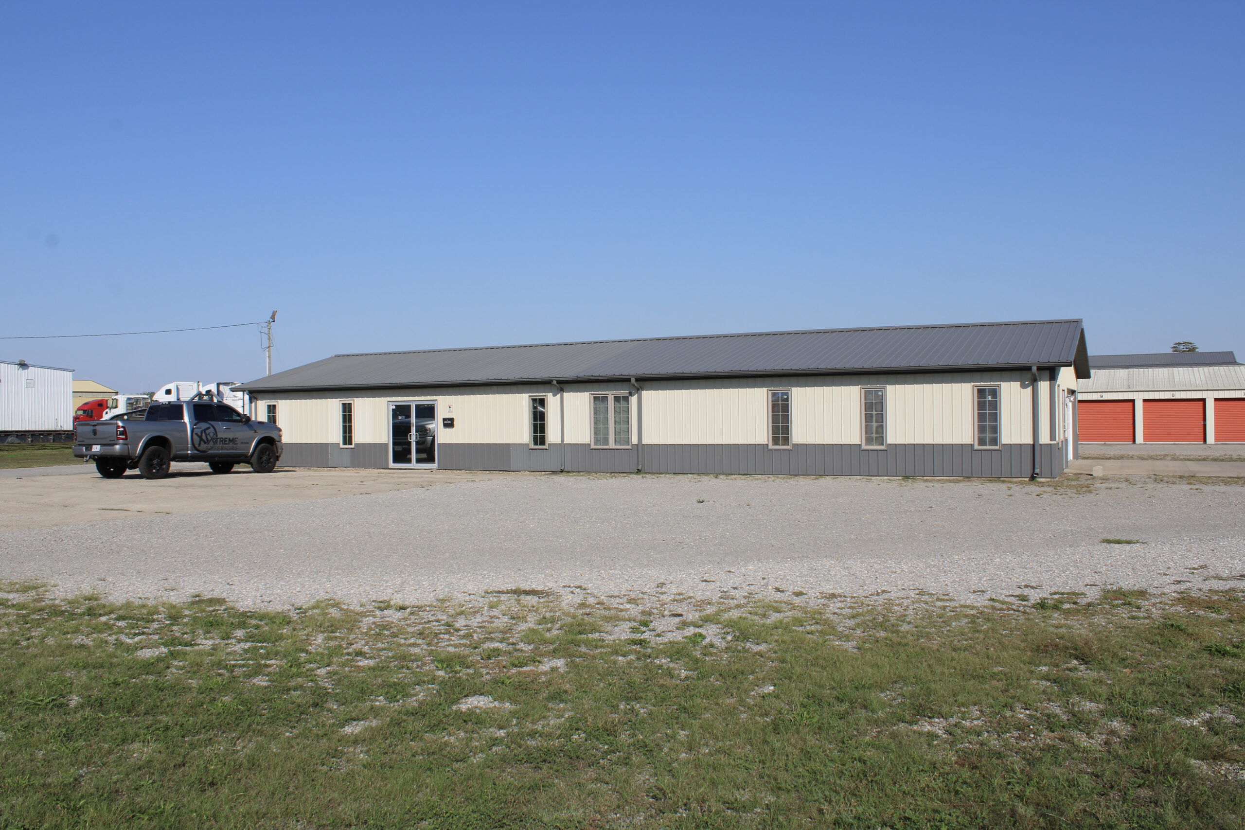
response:
[[[646,445],[728,445],[768,443],[767,389],[792,389],[792,438],[796,444],[859,444],[862,438],[860,389],[886,389],[886,439],[889,444],[971,444],[974,441],[974,386],[997,385],[1001,389],[1000,439],[1003,444],[1032,442],[1030,418],[1032,389],[1023,371],[854,375],[802,378],[731,378],[693,381],[644,381],[642,437]],[[1062,380],[1062,378],[1061,378]],[[568,444],[591,441],[591,394],[631,394],[622,383],[566,386]],[[549,398],[550,445],[560,437],[563,402],[550,385],[488,386],[418,389],[381,389],[341,393],[265,393],[256,411],[278,402],[286,443],[340,441],[337,402],[355,402],[355,444],[388,442],[390,401],[436,401],[438,418],[453,417],[454,428],[442,429],[443,444],[527,444],[528,397]],[[1038,389],[1043,424],[1048,385]],[[449,407],[453,407],[451,413]],[[1040,432],[1043,443],[1048,434]],[[636,432],[632,428],[632,441]]]

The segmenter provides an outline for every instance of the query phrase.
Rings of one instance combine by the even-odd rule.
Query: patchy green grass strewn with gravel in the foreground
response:
[[[1239,590],[289,613],[5,591],[4,829],[1245,816]]]

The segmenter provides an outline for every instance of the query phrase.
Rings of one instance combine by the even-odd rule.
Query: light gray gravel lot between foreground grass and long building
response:
[[[46,580],[61,595],[202,594],[244,607],[325,597],[417,604],[573,585],[603,596],[742,597],[781,589],[980,601],[1245,579],[1245,487],[1149,479],[1077,487],[497,479],[10,531],[0,534],[0,579]],[[1147,544],[1102,544],[1104,536]]]

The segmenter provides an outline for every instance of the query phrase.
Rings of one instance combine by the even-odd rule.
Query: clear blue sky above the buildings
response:
[[[4,335],[1083,317],[1245,357],[1245,6],[5,4]],[[0,341],[123,391],[254,330]]]

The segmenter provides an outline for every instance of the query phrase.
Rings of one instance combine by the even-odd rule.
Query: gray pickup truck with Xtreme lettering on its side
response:
[[[95,462],[103,478],[137,469],[143,478],[164,478],[171,462],[207,462],[214,473],[250,464],[271,473],[281,457],[281,431],[212,401],[152,403],[142,421],[80,421],[73,454]]]

